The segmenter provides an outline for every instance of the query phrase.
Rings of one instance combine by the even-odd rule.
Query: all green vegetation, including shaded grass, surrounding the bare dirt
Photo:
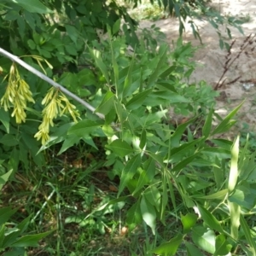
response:
[[[200,36],[195,17],[218,33],[239,24],[205,1],[157,4],[181,35],[190,19]],[[0,13],[1,49],[95,109],[1,56],[3,255],[256,255],[255,153],[225,139],[241,105],[222,119],[218,91],[189,84],[191,44],[137,32],[115,1],[8,0]]]

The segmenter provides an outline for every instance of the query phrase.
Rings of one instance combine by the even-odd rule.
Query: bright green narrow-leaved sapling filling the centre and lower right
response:
[[[193,49],[189,44],[178,42],[177,48],[171,54],[167,54],[166,46],[161,46],[158,55],[151,55],[150,61],[145,65],[144,59],[138,57],[139,48],[130,57],[131,64],[124,61],[127,56],[121,54],[118,49],[121,44],[117,42],[119,38],[109,41],[110,49],[115,49],[116,53],[114,61],[112,58],[112,66],[104,64],[104,54],[99,59],[95,57],[98,56],[95,55],[96,51],[91,51],[96,67],[108,78],[106,85],[99,89],[101,100],[96,98],[92,101],[98,102],[98,110],[102,106],[108,106],[104,108],[107,117],[105,126],[101,124],[102,121],[94,123],[93,126],[99,129],[97,133],[102,131],[108,138],[105,146],[108,152],[106,165],[113,164],[112,176],[117,175],[120,178],[118,195],[122,195],[127,188],[136,199],[126,217],[130,230],[143,220],[155,234],[158,220],[166,224],[166,211],[170,210],[170,204],[177,211],[175,193],[178,193],[183,206],[189,209],[186,217],[182,218],[183,233],[177,234],[169,242],[164,242],[152,253],[175,255],[182,241],[187,241],[188,236],[194,242],[194,245],[185,243],[191,255],[198,249],[215,255],[225,255],[240,244],[243,247],[246,241],[238,233],[241,202],[237,204],[233,199],[234,196],[236,198],[235,189],[245,182],[239,178],[240,169],[237,166],[239,139],[231,147],[230,142],[213,138],[216,134],[229,131],[236,123],[233,117],[242,103],[226,118],[221,119],[216,127],[212,127],[215,116],[211,108],[213,92],[206,87],[210,94],[204,91],[198,93],[201,86],[207,86],[203,83],[197,87],[195,84],[190,86],[180,82],[184,79],[181,71],[193,68],[189,61],[184,61],[186,57],[183,56],[184,53],[192,54]],[[120,65],[120,60],[126,66]],[[168,61],[170,63],[170,60],[171,65],[164,65]],[[122,86],[125,83],[128,84],[127,87]],[[177,102],[183,102],[183,105]],[[172,104],[175,104],[178,113],[193,113],[195,118],[178,125],[176,129],[166,124],[172,118],[167,117],[167,109],[172,108]],[[203,109],[201,113],[198,113],[199,108]],[[195,120],[202,113],[207,113],[207,118],[202,119],[195,131],[192,131],[189,125],[195,124]],[[115,125],[111,127],[112,122]],[[81,132],[90,129],[90,125],[82,120],[73,125],[68,133],[82,136],[81,132],[76,133],[76,127]],[[201,136],[198,137],[200,129]],[[89,135],[92,136],[92,130]],[[215,146],[210,147],[209,143]],[[245,151],[243,154],[245,157]],[[223,166],[222,163],[227,162],[230,157],[229,172],[229,166]],[[119,165],[115,166],[114,163],[117,162]],[[242,160],[240,164],[241,162]],[[218,172],[222,172],[221,180],[217,177]],[[239,192],[237,196],[241,196],[240,193],[243,192]],[[200,224],[200,218],[193,213],[193,208],[197,209],[196,213],[200,215],[204,225]],[[247,209],[251,210],[252,208]]]

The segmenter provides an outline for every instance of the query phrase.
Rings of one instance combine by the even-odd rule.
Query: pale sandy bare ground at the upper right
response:
[[[231,50],[231,55],[235,57],[240,51],[241,44],[245,38],[250,34],[254,35],[256,31],[256,0],[212,0],[211,4],[215,9],[220,10],[223,15],[237,15],[247,18],[247,22],[241,25],[244,35],[236,28],[229,26],[233,39],[236,38],[236,43]],[[167,41],[170,44],[178,38],[178,22],[175,18],[154,22],[142,20],[140,26],[142,28],[150,27],[153,23],[160,27],[162,32],[165,32]],[[195,20],[195,24],[200,28],[203,46],[195,53],[194,60],[202,65],[195,69],[191,81],[206,80],[208,84],[214,87],[224,72],[227,50],[220,49],[218,34],[211,24],[201,20]],[[220,27],[220,30],[226,42],[231,44],[233,39],[228,39],[227,34],[224,32],[225,26]],[[189,24],[186,24],[183,40],[190,41],[195,46],[201,45],[200,41],[194,38]],[[255,49],[253,49],[254,46]],[[235,83],[227,84],[237,77],[240,78]],[[238,114],[239,123],[240,125],[242,123],[249,124],[250,130],[253,131],[256,128],[256,37],[253,40],[253,44],[249,44],[247,47],[247,54],[244,52],[239,56],[230,67],[228,73],[224,75],[222,81],[224,79],[224,85],[219,89],[222,93],[217,100],[218,112],[225,114],[246,99]]]

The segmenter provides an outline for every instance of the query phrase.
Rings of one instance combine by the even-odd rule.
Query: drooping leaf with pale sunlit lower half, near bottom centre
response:
[[[156,212],[154,207],[146,200],[144,196],[142,198],[140,207],[144,222],[151,228],[152,233],[155,234]]]

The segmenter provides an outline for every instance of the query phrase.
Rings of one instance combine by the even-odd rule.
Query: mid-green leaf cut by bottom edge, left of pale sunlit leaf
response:
[[[183,241],[183,236],[181,234],[173,237],[170,241],[163,242],[159,247],[154,248],[152,253],[156,253],[158,255],[166,255],[172,256],[176,255],[177,248]]]

